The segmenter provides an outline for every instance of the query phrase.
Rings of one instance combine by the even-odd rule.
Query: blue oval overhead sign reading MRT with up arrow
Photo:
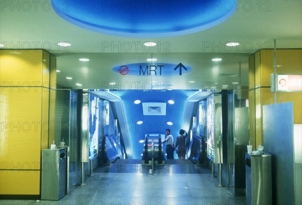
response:
[[[191,67],[182,63],[132,63],[115,66],[112,70],[121,75],[172,76],[186,74],[191,71]]]

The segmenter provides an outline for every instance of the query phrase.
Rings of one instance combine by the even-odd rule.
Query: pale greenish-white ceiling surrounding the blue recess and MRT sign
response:
[[[25,2],[25,1],[24,1]],[[247,70],[241,79],[239,64],[248,69],[248,56],[259,49],[302,48],[302,1],[237,1],[237,11],[222,24],[198,33],[166,38],[125,38],[108,36],[83,28],[61,19],[51,8],[50,1],[0,1],[0,41],[4,49],[45,49],[57,56],[58,82],[70,87],[76,82],[81,88],[102,88],[104,81],[125,82],[125,78],[112,72],[112,66],[145,61],[157,57],[161,62],[189,64],[196,72],[184,78],[173,78],[173,88],[197,88],[202,83],[188,85],[187,81],[246,81]],[[36,2],[35,4],[33,2]],[[38,2],[38,3],[37,3]],[[65,1],[66,2],[66,1]],[[31,6],[29,8],[28,6]],[[57,42],[67,41],[63,48]],[[154,41],[159,45],[146,50],[142,43]],[[238,47],[227,47],[226,42],[240,42]],[[183,54],[195,53],[195,54]],[[87,64],[78,61],[90,58]],[[221,57],[218,65],[208,61]],[[171,62],[170,62],[171,61]],[[197,70],[199,70],[197,72]],[[202,71],[202,72],[201,72]],[[133,78],[133,77],[132,77]],[[128,81],[137,78],[128,77]],[[144,77],[139,80],[163,82],[163,77]],[[181,81],[181,82],[180,82]],[[104,83],[103,83],[104,84]]]

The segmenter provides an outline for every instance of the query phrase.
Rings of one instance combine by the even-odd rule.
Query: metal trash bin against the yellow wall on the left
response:
[[[59,200],[66,190],[65,148],[42,150],[42,200]]]

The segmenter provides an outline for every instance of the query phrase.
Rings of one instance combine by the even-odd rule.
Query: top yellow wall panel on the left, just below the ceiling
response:
[[[42,50],[0,49],[0,81],[2,86],[41,86]]]

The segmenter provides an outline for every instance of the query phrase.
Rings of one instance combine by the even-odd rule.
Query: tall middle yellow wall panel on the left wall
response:
[[[8,162],[11,166],[40,162],[41,88],[1,87],[0,89],[1,169],[3,165],[6,166],[3,163]],[[5,168],[10,169],[11,166]]]

